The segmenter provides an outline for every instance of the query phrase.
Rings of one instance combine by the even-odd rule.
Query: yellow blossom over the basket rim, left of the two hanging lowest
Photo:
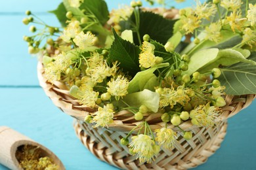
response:
[[[98,107],[98,111],[93,114],[91,123],[96,123],[93,127],[108,127],[108,124],[112,124],[114,122],[113,118],[114,110],[110,109],[110,107]]]

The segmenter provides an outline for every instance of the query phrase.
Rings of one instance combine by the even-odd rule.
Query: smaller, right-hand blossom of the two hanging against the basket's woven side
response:
[[[165,127],[156,129],[156,141],[158,141],[163,148],[173,148],[175,139],[177,139],[177,133],[172,129],[167,129]]]

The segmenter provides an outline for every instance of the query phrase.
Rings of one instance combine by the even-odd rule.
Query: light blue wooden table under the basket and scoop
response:
[[[50,25],[58,25],[47,10],[58,1],[0,1],[0,126],[20,131],[52,150],[66,169],[116,169],[91,154],[75,136],[73,119],[58,110],[39,87],[37,59],[27,52],[22,24],[25,10],[32,10]],[[128,0],[108,0],[110,9]],[[191,5],[188,1],[179,7]],[[256,169],[256,101],[228,121],[221,148],[196,169]],[[0,153],[1,154],[1,153]],[[0,165],[0,169],[7,169]]]

